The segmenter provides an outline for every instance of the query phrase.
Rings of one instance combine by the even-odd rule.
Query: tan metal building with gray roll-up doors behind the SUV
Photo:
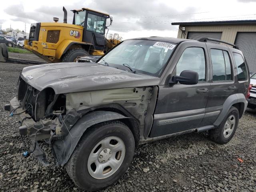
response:
[[[256,20],[175,22],[178,38],[216,38],[236,44],[244,53],[250,73],[256,72]]]

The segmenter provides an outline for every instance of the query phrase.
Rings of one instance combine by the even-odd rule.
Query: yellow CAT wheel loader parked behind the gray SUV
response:
[[[78,56],[103,55],[118,44],[118,40],[105,37],[109,14],[82,8],[72,10],[73,23],[67,24],[67,11],[63,7],[64,22],[41,22],[31,24],[29,39],[24,48],[48,62],[74,62]]]

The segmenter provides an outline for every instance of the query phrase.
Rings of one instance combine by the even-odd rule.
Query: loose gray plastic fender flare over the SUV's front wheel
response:
[[[101,122],[118,119],[130,119],[136,121],[133,118],[110,111],[94,111],[82,116],[63,139],[56,140],[52,143],[59,164],[64,166],[64,164],[68,162],[80,138],[89,127]]]

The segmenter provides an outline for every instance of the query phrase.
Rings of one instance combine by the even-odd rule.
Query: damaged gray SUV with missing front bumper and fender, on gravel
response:
[[[139,144],[203,131],[226,144],[248,104],[248,66],[235,45],[208,40],[222,42],[135,38],[97,62],[24,68],[5,110],[32,141],[26,154],[49,166],[44,140],[77,186],[100,190],[122,177]]]

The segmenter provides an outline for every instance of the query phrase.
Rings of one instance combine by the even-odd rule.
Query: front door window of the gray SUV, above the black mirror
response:
[[[203,48],[186,48],[180,56],[173,75],[180,75],[184,70],[192,70],[198,72],[198,81],[205,81],[205,64]]]

